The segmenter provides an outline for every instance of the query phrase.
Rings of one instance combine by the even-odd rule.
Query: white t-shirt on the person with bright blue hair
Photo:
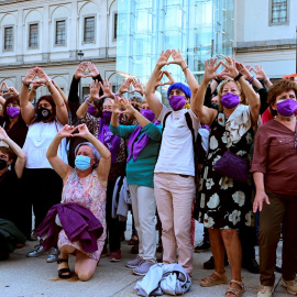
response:
[[[169,110],[163,106],[158,117],[162,124],[165,114],[168,112]],[[187,125],[186,112],[191,118],[195,140],[197,139],[200,121],[196,114],[190,109],[173,111],[166,119],[155,173],[195,176],[193,138]]]

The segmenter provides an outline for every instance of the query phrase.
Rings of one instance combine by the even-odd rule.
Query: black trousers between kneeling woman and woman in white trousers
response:
[[[116,180],[108,180],[107,188],[107,242],[109,242],[109,251],[114,252],[121,249],[121,232],[122,232],[122,223],[119,219],[113,219],[111,217],[112,209],[112,194],[116,186]]]

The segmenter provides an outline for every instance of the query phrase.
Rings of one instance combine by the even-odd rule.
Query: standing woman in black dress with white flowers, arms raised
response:
[[[204,287],[228,283],[224,271],[224,248],[231,265],[231,283],[226,296],[241,296],[244,286],[241,279],[241,244],[237,229],[251,223],[251,185],[235,180],[228,173],[215,169],[215,164],[226,152],[241,160],[249,160],[253,134],[257,127],[260,99],[235,68],[235,62],[226,58],[221,63],[232,79],[222,82],[219,89],[220,110],[204,106],[209,81],[217,76],[216,59],[206,62],[205,76],[198,90],[198,105],[194,111],[201,123],[210,127],[209,151],[200,179],[199,199],[196,202],[196,218],[208,228],[215,258],[215,273],[201,280]],[[249,106],[243,105],[245,97]],[[245,172],[248,176],[248,168]]]

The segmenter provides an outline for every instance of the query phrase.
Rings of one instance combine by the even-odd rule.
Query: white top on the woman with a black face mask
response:
[[[53,168],[47,161],[46,152],[57,132],[63,125],[57,122],[37,122],[29,125],[23,151],[26,154],[26,168]],[[66,139],[63,139],[57,152],[58,157],[66,164]]]

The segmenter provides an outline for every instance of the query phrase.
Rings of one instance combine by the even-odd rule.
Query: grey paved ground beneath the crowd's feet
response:
[[[23,249],[15,250],[8,261],[0,262],[0,297],[130,297],[138,296],[134,286],[141,276],[132,274],[132,270],[125,267],[125,262],[135,257],[131,254],[131,246],[128,240],[131,237],[131,216],[129,216],[125,239],[122,242],[122,261],[109,262],[108,257],[100,260],[95,276],[89,282],[80,282],[75,275],[73,278],[62,280],[57,277],[57,264],[46,263],[46,255],[30,258],[26,253],[31,251],[37,242],[29,241]],[[195,242],[202,238],[202,226],[196,223]],[[280,249],[278,246],[277,261],[282,263]],[[256,250],[257,253],[257,250]],[[187,297],[202,296],[224,296],[228,285],[220,285],[209,288],[199,286],[201,278],[211,274],[206,271],[202,263],[209,260],[211,252],[194,253],[193,285]],[[74,256],[69,257],[70,268],[74,268]],[[258,260],[258,258],[257,258]],[[280,264],[279,263],[279,264]],[[230,277],[230,267],[227,267]],[[243,297],[256,296],[260,280],[258,274],[251,274],[242,268],[242,278],[245,285]],[[276,273],[274,297],[290,296],[280,285],[282,275]],[[164,295],[167,296],[167,295]]]

